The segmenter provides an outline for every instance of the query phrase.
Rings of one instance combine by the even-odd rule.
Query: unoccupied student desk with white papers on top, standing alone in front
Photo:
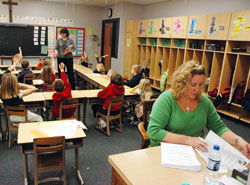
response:
[[[19,125],[18,141],[21,147],[23,162],[24,162],[24,184],[28,185],[28,163],[27,155],[33,154],[33,139],[38,137],[53,137],[57,133],[56,124],[62,121],[51,121],[42,123],[24,123]],[[70,124],[70,122],[68,123]],[[50,132],[51,131],[51,132]],[[50,132],[48,134],[48,132]],[[45,134],[46,133],[46,134]],[[83,184],[83,179],[79,170],[79,151],[78,149],[83,146],[83,138],[86,135],[82,128],[76,128],[73,136],[66,137],[66,149],[75,149],[75,165],[73,167],[75,175],[77,176],[80,184]],[[70,144],[70,145],[69,145]]]

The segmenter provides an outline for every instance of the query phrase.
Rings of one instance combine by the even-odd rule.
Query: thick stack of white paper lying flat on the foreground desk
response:
[[[163,167],[200,171],[201,163],[191,146],[161,143],[161,165]]]

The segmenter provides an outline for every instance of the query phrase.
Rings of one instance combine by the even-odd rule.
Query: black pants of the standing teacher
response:
[[[57,58],[57,65],[58,65],[58,72],[59,72],[59,78],[61,78],[61,70],[59,68],[60,63],[64,63],[64,65],[67,68],[67,74],[69,78],[69,83],[71,85],[71,89],[75,89],[75,77],[74,77],[74,71],[73,71],[73,58]]]

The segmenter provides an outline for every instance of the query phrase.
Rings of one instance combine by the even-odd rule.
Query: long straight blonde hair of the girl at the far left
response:
[[[16,75],[5,73],[2,77],[0,96],[2,99],[15,98],[19,94],[18,81]]]

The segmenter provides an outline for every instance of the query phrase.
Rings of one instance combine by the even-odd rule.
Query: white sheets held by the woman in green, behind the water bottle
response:
[[[243,171],[249,164],[249,159],[247,159],[247,157],[245,157],[232,145],[227,143],[224,139],[216,135],[212,130],[209,131],[204,142],[208,144],[208,152],[201,152],[199,150],[196,151],[206,162],[208,159],[208,153],[213,149],[213,146],[215,144],[220,146],[220,153],[221,153],[221,164],[219,170],[220,173],[226,173],[228,168]]]

